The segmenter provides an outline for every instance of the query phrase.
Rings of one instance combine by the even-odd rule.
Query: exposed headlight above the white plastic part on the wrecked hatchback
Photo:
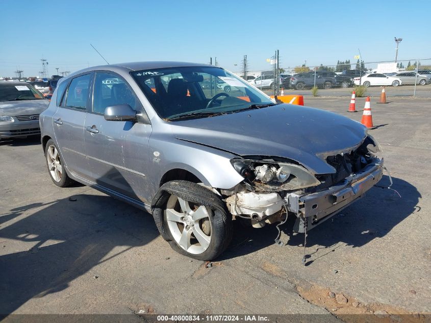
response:
[[[286,190],[300,189],[320,184],[306,168],[292,163],[259,160],[232,160],[238,173],[250,182],[275,185]]]

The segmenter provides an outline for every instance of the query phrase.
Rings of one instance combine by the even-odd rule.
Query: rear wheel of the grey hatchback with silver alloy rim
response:
[[[52,139],[49,139],[45,146],[45,161],[49,177],[54,184],[58,187],[67,187],[73,183],[66,173],[58,147]]]

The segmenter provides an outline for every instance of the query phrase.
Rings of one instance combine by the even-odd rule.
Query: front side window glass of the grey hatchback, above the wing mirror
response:
[[[104,114],[106,107],[128,104],[137,110],[137,98],[129,85],[110,73],[96,73],[93,93],[93,112]]]

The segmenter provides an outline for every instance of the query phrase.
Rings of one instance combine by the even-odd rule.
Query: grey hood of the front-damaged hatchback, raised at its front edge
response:
[[[356,146],[367,134],[361,123],[342,115],[290,104],[171,125],[178,139],[240,156],[285,157],[314,173],[334,172],[316,154]]]

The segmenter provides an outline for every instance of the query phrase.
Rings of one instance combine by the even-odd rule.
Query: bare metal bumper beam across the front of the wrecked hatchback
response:
[[[293,231],[303,233],[313,229],[323,221],[363,197],[383,177],[383,160],[370,164],[355,176],[327,190],[307,195],[295,193],[286,196],[289,211],[297,215]],[[307,224],[306,224],[307,223]]]

